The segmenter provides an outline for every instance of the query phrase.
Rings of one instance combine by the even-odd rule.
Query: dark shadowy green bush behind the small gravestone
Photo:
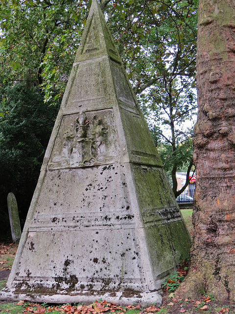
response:
[[[0,90],[5,95],[0,116],[1,233],[10,229],[7,194],[13,192],[24,219],[39,177],[47,143],[58,112],[37,88],[23,84]]]

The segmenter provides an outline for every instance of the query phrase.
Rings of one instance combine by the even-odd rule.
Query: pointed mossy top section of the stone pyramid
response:
[[[93,0],[80,47],[75,57],[75,63],[102,56],[109,56],[121,63],[121,58],[106,24],[99,2]]]

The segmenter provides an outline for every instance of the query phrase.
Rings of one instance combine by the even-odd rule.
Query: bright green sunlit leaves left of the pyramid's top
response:
[[[0,1],[4,83],[39,84],[47,101],[63,94],[89,9],[82,2]]]

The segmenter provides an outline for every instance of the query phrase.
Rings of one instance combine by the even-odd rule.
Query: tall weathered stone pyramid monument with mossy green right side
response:
[[[93,0],[0,299],[161,303],[190,237]]]

